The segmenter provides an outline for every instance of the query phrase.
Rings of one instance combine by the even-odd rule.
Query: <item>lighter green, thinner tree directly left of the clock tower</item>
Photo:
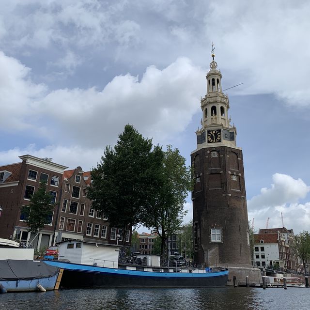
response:
[[[184,211],[184,203],[188,191],[192,189],[192,173],[186,167],[186,159],[178,149],[167,146],[160,170],[161,182],[155,188],[152,207],[144,211],[143,225],[157,232],[161,239],[161,255],[163,257],[165,242],[169,235],[180,229]]]

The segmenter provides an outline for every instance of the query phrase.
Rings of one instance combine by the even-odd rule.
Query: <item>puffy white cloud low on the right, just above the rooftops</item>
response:
[[[286,228],[295,233],[309,230],[310,202],[298,201],[307,197],[310,186],[286,174],[275,173],[272,178],[271,187],[262,188],[260,195],[248,200],[248,217],[254,217],[254,229],[265,228],[268,217],[269,228],[282,227],[282,213]]]

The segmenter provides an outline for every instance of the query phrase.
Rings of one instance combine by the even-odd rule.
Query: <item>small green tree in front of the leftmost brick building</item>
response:
[[[47,184],[40,182],[38,190],[30,199],[29,207],[24,209],[28,210],[26,222],[30,232],[37,233],[49,223],[55,205],[58,204],[53,201],[54,196],[47,191]]]

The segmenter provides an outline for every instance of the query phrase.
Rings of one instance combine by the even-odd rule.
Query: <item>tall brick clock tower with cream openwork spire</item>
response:
[[[228,117],[229,99],[214,57],[212,53],[201,99],[197,148],[191,153],[194,260],[206,266],[251,267],[242,149],[236,145],[237,130]]]

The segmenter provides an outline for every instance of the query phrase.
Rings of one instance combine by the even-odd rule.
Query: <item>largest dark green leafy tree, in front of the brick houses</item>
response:
[[[87,197],[111,226],[122,229],[123,244],[126,232],[141,222],[142,210],[148,210],[154,201],[162,157],[159,146],[153,148],[151,139],[144,139],[127,124],[114,149],[107,146],[101,162],[91,171]]]

